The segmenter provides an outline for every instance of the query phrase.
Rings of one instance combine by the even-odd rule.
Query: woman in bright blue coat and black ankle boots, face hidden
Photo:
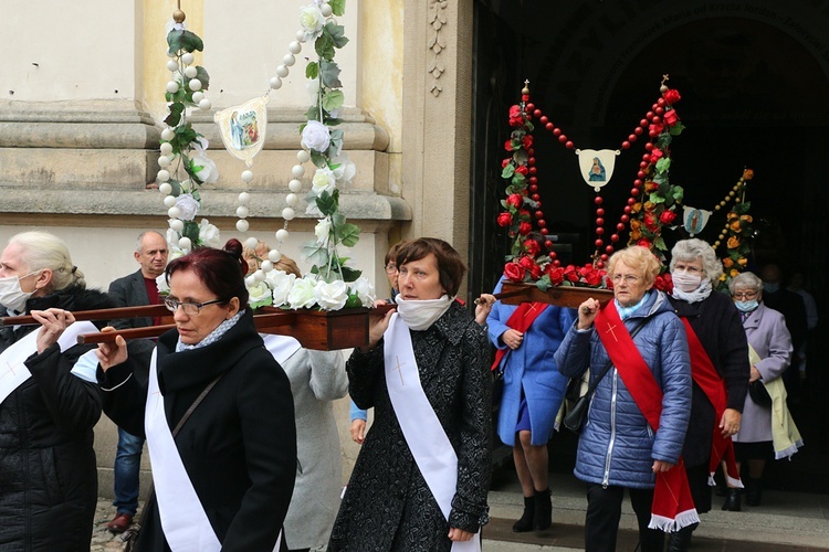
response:
[[[501,291],[502,282],[495,287]],[[486,317],[490,340],[504,372],[497,432],[513,447],[515,471],[524,493],[524,513],[513,531],[541,531],[553,522],[547,486],[547,442],[562,406],[568,379],[558,373],[553,353],[573,325],[573,309],[538,302],[495,302]],[[532,321],[531,321],[532,320]],[[524,328],[529,322],[527,328]]]

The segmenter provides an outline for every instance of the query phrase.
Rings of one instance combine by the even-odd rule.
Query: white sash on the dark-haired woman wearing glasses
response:
[[[158,349],[154,349],[149,363],[144,431],[147,436],[149,460],[151,466],[155,466],[153,485],[164,537],[172,552],[220,551],[221,542],[190,481],[190,476],[181,461],[172,432],[167,423],[164,396],[158,389],[157,354]],[[280,541],[282,541],[281,531],[273,550],[280,550]]]

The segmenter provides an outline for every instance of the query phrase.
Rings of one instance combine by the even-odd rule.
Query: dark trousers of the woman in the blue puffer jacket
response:
[[[615,552],[616,535],[619,532],[621,503],[625,487],[587,485],[587,516],[585,518],[585,550],[587,552]],[[653,489],[627,489],[630,503],[639,522],[639,550],[641,552],[662,552],[664,533],[648,529],[651,520]]]

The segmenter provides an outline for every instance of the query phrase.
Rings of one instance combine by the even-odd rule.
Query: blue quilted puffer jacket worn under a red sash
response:
[[[661,291],[650,291],[644,305],[625,320],[628,331],[642,318],[648,320],[633,341],[664,393],[659,432],[654,434],[648,425],[612,367],[596,388],[579,437],[574,474],[583,481],[652,488],[653,460],[676,464],[682,453],[691,413],[691,361],[685,329]],[[576,325],[570,327],[555,359],[564,375],[581,374],[590,365],[591,378],[609,361],[595,328],[580,331]]]

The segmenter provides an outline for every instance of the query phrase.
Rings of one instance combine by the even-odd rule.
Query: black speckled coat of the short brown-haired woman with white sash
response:
[[[458,455],[458,492],[449,522],[414,463],[391,407],[384,341],[346,364],[349,393],[375,407],[328,551],[449,551],[450,524],[475,532],[489,519],[492,376],[483,329],[459,304],[429,329],[411,332],[420,382]]]

